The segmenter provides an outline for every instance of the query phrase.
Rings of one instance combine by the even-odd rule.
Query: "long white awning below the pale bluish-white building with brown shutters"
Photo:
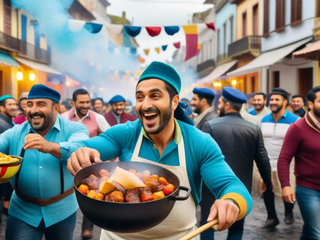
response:
[[[259,57],[255,58],[243,67],[227,73],[227,76],[240,76],[260,71],[260,68],[262,67],[268,67],[270,65],[275,64],[278,61],[281,61],[283,58],[292,53],[298,47],[310,42],[312,38],[313,37],[309,37],[307,39],[301,40],[297,43],[290,44],[282,48],[271,50],[269,52],[263,52]]]

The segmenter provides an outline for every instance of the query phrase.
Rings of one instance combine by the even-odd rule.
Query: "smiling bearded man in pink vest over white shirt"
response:
[[[75,107],[61,114],[61,117],[84,124],[91,138],[104,133],[110,127],[101,114],[90,110],[90,95],[86,90],[78,89],[73,92],[72,105]]]

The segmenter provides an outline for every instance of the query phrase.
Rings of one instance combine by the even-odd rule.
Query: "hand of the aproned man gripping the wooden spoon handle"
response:
[[[218,217],[218,231],[230,228],[236,222],[239,215],[239,208],[230,200],[217,199],[210,209],[208,222]]]

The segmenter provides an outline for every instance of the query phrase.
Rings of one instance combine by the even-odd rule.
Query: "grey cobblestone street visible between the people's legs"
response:
[[[284,239],[284,240],[298,240],[303,221],[301,219],[300,211],[298,205],[294,208],[294,217],[295,222],[293,225],[285,225],[283,223],[284,220],[284,206],[280,198],[276,198],[276,210],[278,213],[278,217],[280,220],[280,225],[276,228],[276,231],[274,232],[268,232],[267,230],[262,230],[260,226],[263,224],[263,222],[266,220],[266,210],[265,206],[263,204],[263,200],[258,197],[254,196],[254,207],[250,215],[246,218],[245,221],[245,229],[244,229],[244,240],[278,240],[278,239]],[[74,232],[74,240],[81,240],[81,223],[82,223],[82,213],[78,212],[78,218],[77,218],[77,226],[76,230]],[[5,219],[3,219],[4,225],[5,225]],[[1,233],[0,239],[4,240],[4,229],[5,226],[3,226],[3,231]],[[216,233],[215,240],[225,240],[227,237],[227,231]],[[100,229],[95,227],[94,228],[94,237],[92,240],[99,240],[100,237]],[[30,239],[31,240],[31,239]]]

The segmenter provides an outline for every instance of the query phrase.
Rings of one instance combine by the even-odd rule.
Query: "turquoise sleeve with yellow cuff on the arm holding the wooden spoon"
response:
[[[252,209],[252,197],[244,184],[236,177],[218,144],[206,135],[199,151],[200,174],[204,183],[217,199],[230,199],[239,206],[237,220],[244,218]]]

